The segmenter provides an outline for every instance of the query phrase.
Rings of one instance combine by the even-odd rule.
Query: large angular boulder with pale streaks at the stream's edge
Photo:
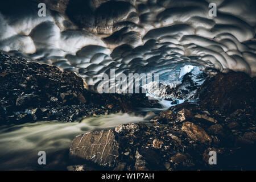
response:
[[[93,131],[73,139],[69,156],[73,161],[85,160],[113,168],[119,157],[118,149],[113,130]]]

